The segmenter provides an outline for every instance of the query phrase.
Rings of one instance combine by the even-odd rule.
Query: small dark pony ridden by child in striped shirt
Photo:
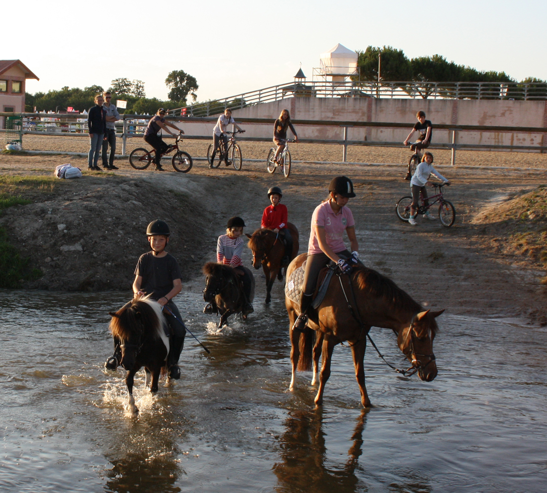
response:
[[[217,262],[207,262],[201,269],[205,274],[205,289],[203,290],[203,300],[211,303],[213,300],[217,304],[220,313],[218,328],[228,325],[228,317],[234,313],[240,313],[245,303],[243,295],[243,286],[235,269],[229,265]],[[254,299],[254,277],[251,289],[252,303]],[[243,315],[243,319],[247,316]]]

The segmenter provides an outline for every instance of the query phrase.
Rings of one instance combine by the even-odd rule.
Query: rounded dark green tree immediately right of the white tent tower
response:
[[[403,50],[393,46],[383,48],[368,46],[357,52],[357,67],[360,80],[378,80],[378,58],[381,53],[380,80],[403,81],[412,79],[412,67]]]

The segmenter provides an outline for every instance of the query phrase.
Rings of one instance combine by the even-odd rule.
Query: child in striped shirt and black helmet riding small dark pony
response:
[[[243,295],[245,295],[245,304],[243,304],[243,315],[254,312],[251,300],[251,291],[253,289],[253,273],[243,266],[241,255],[245,241],[241,237],[245,221],[238,216],[228,219],[226,224],[226,234],[221,234],[217,241],[217,262],[233,267],[237,275],[242,276]],[[207,303],[203,308],[203,313],[217,313],[216,303]]]

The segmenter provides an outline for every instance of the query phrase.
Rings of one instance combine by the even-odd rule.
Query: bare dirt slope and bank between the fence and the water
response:
[[[85,167],[84,159],[74,157],[2,155],[0,173],[49,174],[65,162]],[[411,227],[397,219],[395,202],[409,192],[401,166],[301,164],[294,165],[290,178],[284,179],[278,173],[267,174],[262,163],[244,162],[242,171],[236,172],[210,170],[202,161],[188,174],[137,172],[121,162],[115,174],[85,172],[83,179],[59,180],[47,203],[7,209],[0,226],[44,272],[41,281],[27,287],[127,289],[136,257],[146,251],[143,231],[149,220],[160,217],[171,222],[176,230],[171,251],[190,279],[199,275],[203,262],[214,259],[216,237],[224,231],[226,219],[241,215],[248,232],[260,226],[268,203],[266,191],[272,185],[281,186],[289,220],[300,231],[300,251],[305,251],[313,209],[327,196],[330,179],[346,174],[356,187],[357,197],[349,206],[365,265],[391,277],[427,307],[460,315],[547,321],[547,296],[540,283],[545,272],[522,259],[491,253],[488,238],[481,239],[478,226],[471,222],[481,210],[495,207],[511,194],[544,184],[545,171],[449,166],[439,170],[453,183],[446,191],[457,211],[452,228],[426,220]],[[57,218],[48,222],[50,209]],[[66,233],[57,226],[78,220],[79,225]],[[104,227],[112,222],[115,227]],[[77,233],[66,242],[73,230]],[[106,233],[98,234],[100,230]],[[61,250],[63,244],[78,242],[82,251]],[[77,263],[68,262],[67,255],[74,254]]]

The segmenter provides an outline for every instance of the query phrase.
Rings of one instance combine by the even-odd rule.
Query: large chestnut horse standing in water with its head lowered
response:
[[[306,254],[294,259],[287,275],[300,267]],[[351,286],[350,286],[351,283]],[[330,362],[336,344],[348,341],[353,354],[353,365],[361,391],[364,407],[370,406],[365,388],[364,357],[366,336],[370,327],[391,328],[397,334],[399,349],[411,362],[422,380],[431,382],[437,377],[437,365],[433,354],[433,339],[438,332],[435,317],[444,310],[424,310],[420,304],[401,290],[395,283],[373,269],[358,266],[351,275],[333,276],[330,286],[317,310],[309,310],[308,327],[301,333],[293,330],[298,315],[295,303],[285,298],[290,323],[290,361],[292,378],[290,390],[294,389],[295,371],[310,371],[313,356],[313,379],[315,384],[319,363],[319,348],[322,348],[322,365],[319,374],[319,390],[315,397],[317,405],[323,402],[323,391],[330,376]],[[351,308],[350,308],[351,306]],[[312,331],[316,331],[316,342],[312,351]]]

